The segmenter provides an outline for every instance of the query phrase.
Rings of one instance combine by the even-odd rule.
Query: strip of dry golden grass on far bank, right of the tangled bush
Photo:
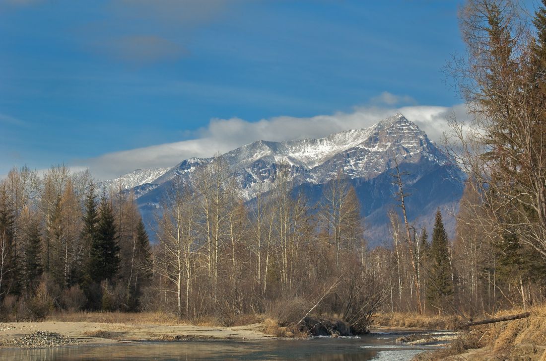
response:
[[[422,328],[429,330],[452,330],[460,322],[456,316],[428,316],[414,313],[377,313],[373,316],[375,326],[400,328]]]

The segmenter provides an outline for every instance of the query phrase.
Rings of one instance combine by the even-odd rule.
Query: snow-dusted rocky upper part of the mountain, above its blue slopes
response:
[[[371,179],[399,162],[418,162],[422,158],[443,165],[448,158],[436,148],[419,127],[401,113],[375,125],[327,135],[319,139],[298,139],[282,142],[258,140],[222,155],[238,178],[241,192],[251,199],[258,192],[258,183],[271,186],[280,165],[288,165],[298,184],[323,184],[342,169],[350,178]],[[173,168],[135,170],[105,184],[140,187],[138,196],[168,183],[175,176],[189,177],[193,171],[214,158],[192,157]],[[159,187],[161,188],[161,187]],[[268,187],[258,187],[260,191]],[[156,191],[155,191],[156,192]]]

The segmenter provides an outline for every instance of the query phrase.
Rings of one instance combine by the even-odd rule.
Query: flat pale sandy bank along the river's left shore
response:
[[[260,323],[238,327],[201,327],[181,324],[123,324],[93,322],[6,322],[0,324],[0,339],[12,340],[37,330],[57,332],[86,344],[110,344],[134,340],[235,339],[272,338],[264,334]]]

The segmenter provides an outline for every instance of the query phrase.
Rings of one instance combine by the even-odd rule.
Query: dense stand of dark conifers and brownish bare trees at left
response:
[[[88,171],[43,177],[13,168],[0,182],[0,298],[8,313],[136,310],[150,242],[130,194],[98,198]]]

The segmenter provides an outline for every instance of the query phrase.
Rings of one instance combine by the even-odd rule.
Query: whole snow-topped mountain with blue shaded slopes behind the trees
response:
[[[280,165],[289,165],[295,191],[317,202],[324,187],[338,169],[357,191],[365,218],[366,238],[371,246],[389,242],[387,210],[396,205],[391,170],[397,159],[404,177],[410,221],[431,229],[437,208],[455,210],[462,195],[464,173],[417,125],[396,114],[369,128],[349,130],[321,139],[264,141],[244,145],[225,153],[240,187],[241,196],[252,200],[258,192],[274,186]],[[140,176],[143,170],[120,177],[133,185],[145,218],[158,207],[175,176],[189,175],[213,158],[189,158],[168,170],[147,170],[161,174],[156,179]],[[113,181],[109,181],[113,182]],[[131,183],[132,182],[132,183]],[[446,228],[453,233],[454,220],[446,214]]]

